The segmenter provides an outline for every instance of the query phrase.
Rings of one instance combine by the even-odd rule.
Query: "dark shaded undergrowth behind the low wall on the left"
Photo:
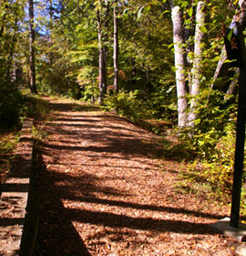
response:
[[[0,87],[0,184],[5,183],[15,157],[15,148],[20,130],[26,118],[35,119],[33,136],[38,138],[38,125],[48,115],[46,101],[15,87],[14,83],[5,83]]]

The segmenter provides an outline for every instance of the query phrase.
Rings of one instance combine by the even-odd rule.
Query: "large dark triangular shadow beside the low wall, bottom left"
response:
[[[37,164],[36,198],[40,220],[35,255],[90,255],[64,210],[62,194],[55,187],[55,176],[47,172],[40,154]]]

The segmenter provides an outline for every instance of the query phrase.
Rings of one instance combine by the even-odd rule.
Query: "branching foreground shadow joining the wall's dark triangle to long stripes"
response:
[[[92,211],[79,207],[83,202],[106,207],[129,208],[129,212],[134,211],[134,209],[144,209],[189,214],[202,218],[221,218],[219,215],[205,214],[185,208],[167,208],[98,198],[95,196],[95,193],[98,192],[103,193],[105,196],[114,197],[129,195],[125,191],[98,186],[96,184],[98,182],[97,176],[87,174],[69,176],[47,171],[43,165],[38,173],[38,180],[38,197],[39,205],[41,206],[38,241],[41,251],[36,255],[90,255],[83,238],[73,226],[73,222],[117,228],[115,234],[118,236],[120,236],[120,229],[122,228],[149,230],[154,233],[168,231],[183,234],[213,234],[207,224],[173,219],[133,218],[105,211]],[[78,197],[77,195],[80,196]],[[63,204],[64,200],[73,201],[72,208],[66,208]],[[126,232],[125,229],[124,232]],[[101,235],[103,236],[103,234]],[[104,235],[107,236],[107,234]],[[128,235],[132,236],[132,233]]]

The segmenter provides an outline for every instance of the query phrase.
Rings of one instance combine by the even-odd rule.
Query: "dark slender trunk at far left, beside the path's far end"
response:
[[[29,65],[30,65],[30,90],[36,93],[36,67],[35,67],[35,30],[34,30],[34,1],[29,0]]]

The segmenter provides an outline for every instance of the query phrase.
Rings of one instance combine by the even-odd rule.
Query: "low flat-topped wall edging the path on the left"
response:
[[[0,212],[0,226],[3,227],[0,254],[5,256],[31,256],[36,249],[39,214],[34,187],[37,154],[33,126],[34,119],[26,118],[16,145],[15,159],[5,184],[0,186],[0,205],[3,207]],[[8,208],[12,210],[5,210]]]

